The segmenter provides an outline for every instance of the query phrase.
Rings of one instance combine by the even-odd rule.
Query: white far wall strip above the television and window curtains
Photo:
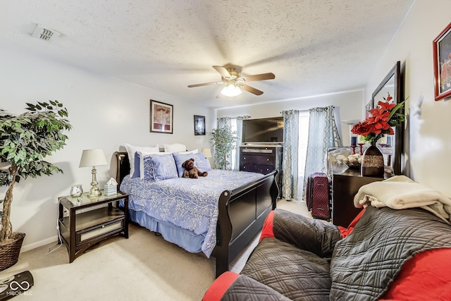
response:
[[[217,109],[220,117],[235,117],[248,115],[251,118],[266,118],[282,116],[286,110],[309,110],[314,107],[335,106],[335,122],[337,123],[343,145],[350,145],[350,127],[342,121],[362,118],[364,91],[350,91],[337,94],[324,94],[315,97],[292,99],[289,101],[272,102],[269,104],[254,104],[252,106],[237,106],[228,109]]]

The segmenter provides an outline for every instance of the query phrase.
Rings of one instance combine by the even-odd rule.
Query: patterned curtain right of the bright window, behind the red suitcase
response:
[[[302,199],[305,200],[307,179],[311,173],[326,173],[327,149],[329,147],[342,147],[340,135],[333,113],[333,106],[313,108],[309,110],[309,140],[307,142],[307,157],[305,161],[304,188]]]

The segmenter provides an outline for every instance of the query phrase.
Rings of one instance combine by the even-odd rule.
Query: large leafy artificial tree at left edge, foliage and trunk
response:
[[[4,199],[0,199],[0,245],[11,240],[11,203],[13,188],[20,178],[36,178],[62,172],[60,168],[44,161],[66,145],[63,132],[72,126],[66,119],[68,111],[57,100],[27,104],[27,111],[13,115],[0,111],[0,185],[8,186]]]

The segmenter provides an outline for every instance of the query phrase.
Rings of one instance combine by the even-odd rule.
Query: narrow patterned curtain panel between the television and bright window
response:
[[[282,197],[297,200],[299,111],[283,111]]]

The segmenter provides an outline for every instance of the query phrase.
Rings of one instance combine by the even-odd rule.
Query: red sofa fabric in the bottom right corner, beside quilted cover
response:
[[[409,259],[381,300],[451,300],[451,248]]]

